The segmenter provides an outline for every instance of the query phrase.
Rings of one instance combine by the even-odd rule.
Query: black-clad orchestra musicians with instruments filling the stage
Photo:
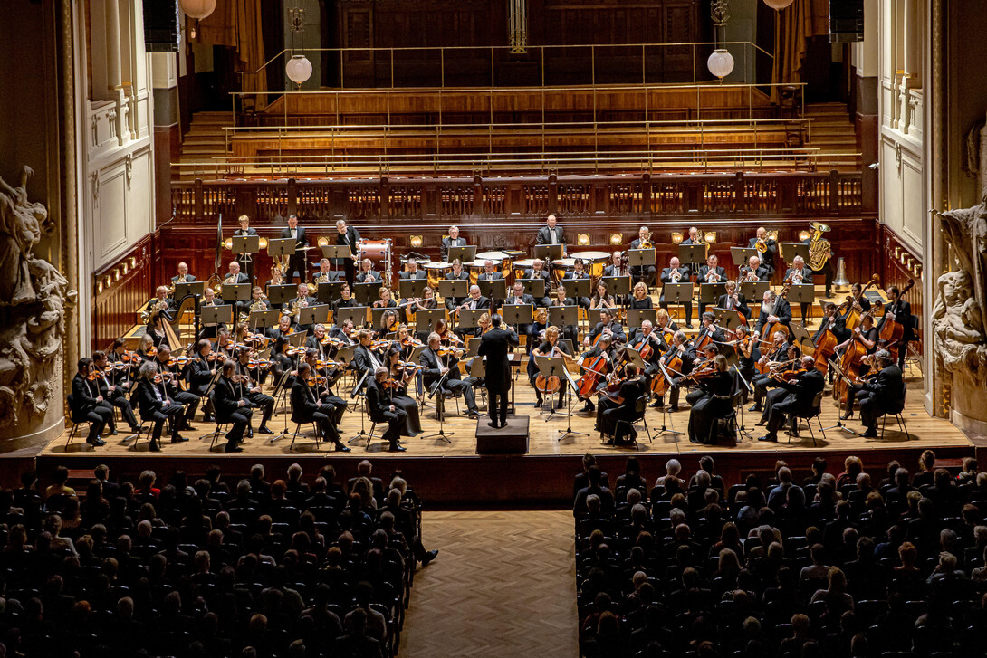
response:
[[[234,235],[258,235],[250,227],[250,217],[241,216],[239,225]],[[364,241],[355,228],[344,220],[337,222],[336,228],[336,244],[349,247],[352,256],[321,258],[311,284],[307,283],[310,272],[306,254],[310,240],[315,242],[316,238],[306,234],[295,215],[280,231],[283,238],[295,240],[294,256],[270,263],[244,255],[228,260],[228,271],[207,282],[196,300],[196,309],[234,305],[235,334],[231,335],[222,323],[196,326],[193,339],[186,345],[187,352],[180,351],[183,345],[172,344],[174,339],[166,329],[166,325],[174,327],[180,320],[177,316],[181,315],[183,300],[174,298],[175,284],[196,281],[189,265],[178,263],[177,274],[169,277],[172,285],[158,286],[155,297],[143,307],[146,327],[137,338],[139,344],[129,345],[135,349],[128,350],[129,338],[120,338],[105,350],[95,351],[92,359],[80,361],[73,380],[71,406],[74,420],[91,422],[87,442],[99,447],[103,445],[100,435],[104,429],[115,434],[116,407],[132,432],[139,430],[138,415],[153,423],[151,446],[158,451],[164,421],[171,420],[173,442],[181,442],[184,438],[179,431],[191,428],[190,422],[201,404],[202,421],[228,424],[226,451],[239,452],[253,436],[253,409],[260,409],[258,433],[273,434],[268,423],[275,415],[275,397],[283,391],[285,412],[292,421],[314,423],[320,439],[344,451],[348,448],[342,444],[339,427],[348,407],[333,387],[342,378],[349,378],[346,382],[352,385],[364,382],[366,411],[374,422],[387,424],[383,438],[391,450],[404,451],[400,439],[422,432],[422,422],[428,418],[421,410],[426,400],[436,395],[440,409],[444,399],[462,397],[462,415],[479,417],[474,389],[482,387],[483,381],[468,376],[470,360],[464,356],[471,339],[494,329],[492,318],[504,306],[531,309],[530,322],[523,320],[524,314],[503,312],[505,326],[512,317],[522,319],[518,326],[503,330],[516,329],[519,336],[524,336],[530,352],[526,380],[534,390],[534,406],[541,407],[546,400],[552,400],[555,408],[562,408],[568,396],[574,395],[584,402],[578,412],[595,414],[602,438],[615,445],[626,438],[615,436],[617,421],[633,419],[643,396],[650,408],[675,412],[679,410],[680,392],[686,389],[689,439],[707,443],[715,439],[711,436],[713,420],[729,411],[731,401],[741,390],[738,378],[752,387],[754,401],[750,410],[763,414],[767,433],[762,438],[768,441],[776,440],[777,430],[787,416],[805,409],[810,394],[814,396],[822,390],[817,380],[822,378],[824,387],[827,373],[841,418],[852,418],[859,403],[868,436],[873,433],[881,409],[892,408],[897,402],[895,397],[900,398],[903,390],[902,366],[908,342],[914,339],[911,307],[902,297],[907,288],[889,288],[889,300],[876,304],[865,294],[873,279],[854,283],[845,302],[822,303],[823,315],[816,316],[819,325],[811,334],[812,345],[805,339],[797,340],[786,295],[791,286],[812,283],[814,273],[821,271],[814,268],[822,263],[821,256],[813,259],[812,254],[832,256],[832,247],[828,242],[822,244],[825,241],[818,237],[828,227],[818,223],[813,223],[817,235],[809,241],[810,247],[818,247],[810,253],[812,266],[802,256],[792,257],[791,262],[781,260],[775,232],[769,234],[764,227],[757,229],[755,237],[745,238],[746,247],[757,255],[749,256],[739,267],[730,260],[723,266],[722,252],[710,253],[714,241],[707,242],[708,235],[691,227],[681,244],[706,246],[706,255],[700,256],[705,260],[683,264],[679,256],[670,256],[667,266],[659,270],[654,265],[630,267],[627,251],[617,243],[612,244],[620,249],[611,254],[606,266],[601,262],[605,258],[584,259],[578,255],[566,262],[532,258],[519,262],[516,268],[510,266],[507,256],[501,266],[498,255],[483,255],[464,266],[458,258],[444,260],[450,249],[469,245],[460,236],[459,228],[450,226],[448,235],[435,245],[443,258],[439,263],[443,268],[435,276],[428,257],[418,253],[400,259],[404,263],[400,272],[381,269],[378,256],[370,257],[361,251]],[[319,241],[322,245],[323,239]],[[535,242],[567,248],[567,237],[557,217],[546,218]],[[627,247],[636,252],[655,250],[654,243],[652,232],[642,226]],[[824,248],[828,249],[825,254]],[[781,286],[769,285],[760,300],[745,298],[740,292],[741,284],[770,282],[776,266],[785,272]],[[265,267],[269,271],[266,286],[254,285],[249,301],[224,300],[224,286],[263,281]],[[295,296],[286,299],[288,295],[282,288],[273,299],[283,300],[283,304],[271,303],[268,293],[273,293],[269,287],[293,280],[296,272],[300,282]],[[604,277],[627,277],[628,287],[623,281],[611,284]],[[213,285],[217,278],[218,285]],[[481,283],[504,279],[504,299],[483,294]],[[536,279],[545,286],[544,295],[538,297],[525,284],[526,280]],[[393,286],[400,280],[421,281],[421,292],[396,299]],[[443,297],[444,288],[436,285],[441,280],[472,284],[467,283],[463,297]],[[581,280],[589,282],[585,288],[588,297],[575,292],[575,282]],[[656,300],[649,289],[652,282],[661,286]],[[376,299],[357,302],[352,296],[355,283],[379,284],[370,293]],[[326,302],[320,304],[313,294],[323,284],[333,285],[328,297],[325,289],[320,291],[320,299]],[[715,309],[704,308],[712,305],[700,301],[699,288],[704,284],[723,286],[715,298]],[[612,294],[613,285],[617,285],[615,291],[621,291],[618,296]],[[670,285],[679,286],[674,294],[666,294]],[[623,291],[628,288],[631,294],[625,296]],[[364,308],[367,303],[383,312],[371,316],[370,309]],[[694,329],[692,312],[697,303],[700,324]],[[306,317],[311,319],[314,313],[315,322],[304,320],[306,324],[300,325],[302,311],[312,307],[319,309]],[[552,307],[578,310],[576,320],[554,325],[550,322],[554,316],[548,312]],[[801,304],[803,324],[810,307]],[[341,311],[349,309],[355,311],[342,317]],[[418,322],[422,312],[436,309],[444,313],[438,318],[429,313],[427,322]],[[265,316],[263,323],[251,322],[253,314],[268,311],[280,311],[273,327],[273,315]],[[464,326],[467,311],[483,313],[469,314],[475,322]],[[362,320],[360,312],[365,313]],[[587,317],[596,314],[596,323],[587,322]],[[681,315],[675,314],[684,314],[684,322]],[[563,315],[572,317],[571,311]],[[379,318],[377,326],[372,325],[371,317]],[[675,317],[681,328],[673,321]],[[186,355],[173,356],[177,353]],[[345,355],[343,361],[338,361],[337,355],[341,354]],[[539,372],[536,359],[549,356],[564,359],[577,392],[569,391],[565,378],[546,378]],[[808,359],[812,361],[810,367],[806,367]],[[510,366],[516,368],[517,363]],[[508,390],[510,386],[514,383],[507,386]],[[275,391],[276,387],[280,388]],[[442,414],[440,410],[436,418]],[[503,421],[493,418],[492,423],[500,425]]]

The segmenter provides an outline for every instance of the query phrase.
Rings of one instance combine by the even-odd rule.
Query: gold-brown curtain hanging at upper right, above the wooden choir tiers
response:
[[[775,65],[771,81],[776,85],[801,82],[807,39],[828,34],[828,0],[795,0],[775,12]],[[779,101],[778,87],[771,88],[771,101]]]

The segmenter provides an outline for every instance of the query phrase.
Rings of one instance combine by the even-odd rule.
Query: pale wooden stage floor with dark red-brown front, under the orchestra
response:
[[[920,382],[910,383],[913,392],[922,391]],[[254,438],[244,444],[244,452],[227,455],[222,452],[224,442],[220,437],[210,451],[209,438],[215,427],[212,423],[196,422],[195,432],[186,432],[188,443],[173,445],[167,438],[161,453],[148,452],[148,440],[141,435],[135,447],[133,439],[121,433],[119,436],[105,436],[107,445],[92,448],[85,443],[85,427],[66,447],[68,430],[59,439],[52,441],[38,455],[38,472],[49,473],[58,465],[65,465],[73,471],[72,476],[81,483],[91,475],[98,464],[109,464],[115,476],[137,475],[144,469],[156,469],[167,474],[176,469],[189,475],[199,475],[213,465],[219,466],[226,478],[235,481],[249,473],[252,465],[261,463],[266,467],[268,480],[284,475],[288,465],[298,462],[305,471],[306,479],[327,463],[333,464],[341,478],[355,473],[356,464],[364,458],[374,463],[374,474],[388,477],[401,471],[413,482],[420,495],[432,508],[455,509],[461,507],[486,506],[503,507],[559,507],[569,504],[572,475],[580,468],[580,457],[591,452],[600,458],[603,469],[612,478],[623,473],[624,460],[637,454],[643,464],[645,475],[653,479],[664,471],[664,463],[670,457],[677,457],[688,473],[694,473],[700,455],[712,454],[717,460],[717,471],[730,480],[749,473],[770,473],[777,460],[785,460],[799,472],[807,473],[808,466],[816,456],[823,456],[834,473],[840,473],[843,459],[848,455],[860,456],[867,470],[878,479],[882,477],[884,465],[891,459],[898,459],[909,471],[917,467],[918,457],[925,449],[932,448],[940,459],[955,460],[973,456],[978,445],[967,438],[947,420],[930,417],[921,404],[918,393],[909,396],[904,416],[911,439],[898,431],[893,419],[888,419],[887,431],[883,440],[866,439],[840,429],[826,430],[822,439],[818,427],[815,428],[817,445],[813,447],[809,432],[801,430],[800,438],[788,443],[788,437],[779,434],[779,443],[759,442],[756,437],[762,428],[753,427],[758,415],[744,412],[744,424],[754,440],[744,436],[736,446],[702,446],[689,442],[687,437],[676,435],[656,435],[649,443],[644,427],[639,425],[638,438],[640,451],[633,448],[613,448],[600,443],[599,435],[592,431],[593,417],[589,414],[573,413],[571,427],[577,432],[590,436],[572,436],[559,441],[567,428],[565,412],[557,412],[548,418],[542,409],[534,407],[534,395],[524,380],[516,384],[517,413],[528,415],[529,453],[519,456],[479,456],[476,454],[477,421],[465,415],[455,415],[455,405],[449,402],[449,418],[445,423],[446,434],[451,443],[438,438],[405,439],[406,453],[389,453],[386,444],[376,437],[369,449],[366,440],[350,443],[352,452],[337,453],[331,449],[316,447],[311,438],[312,428],[303,427],[305,435],[299,435],[294,450],[289,449],[291,436],[271,443],[270,437],[255,432]],[[463,409],[465,411],[465,409]],[[435,407],[426,407],[421,424],[426,434],[438,431],[434,420]],[[669,429],[685,431],[689,420],[688,407],[677,413],[667,414]],[[546,420],[548,418],[548,420]],[[661,428],[662,414],[658,409],[647,410],[647,424],[652,435]],[[830,399],[823,401],[822,425],[829,427],[837,422],[837,410]],[[487,417],[479,421],[486,426]],[[813,423],[814,424],[814,423]],[[860,429],[858,420],[850,420],[852,429]],[[275,431],[284,428],[284,415],[278,413],[270,426]],[[370,430],[370,423],[364,425]],[[289,430],[294,425],[289,423]],[[352,437],[360,431],[360,415],[347,413],[342,422],[342,434]],[[375,433],[376,434],[376,433]],[[199,438],[205,435],[205,438]],[[987,445],[987,444],[985,444]],[[982,456],[981,463],[987,462]]]

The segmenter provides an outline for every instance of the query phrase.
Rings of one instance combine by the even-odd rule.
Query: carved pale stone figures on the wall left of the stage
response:
[[[0,179],[0,423],[43,414],[61,376],[66,305],[76,291],[51,263],[34,253],[54,227],[40,203],[28,200],[34,172],[20,185]]]

